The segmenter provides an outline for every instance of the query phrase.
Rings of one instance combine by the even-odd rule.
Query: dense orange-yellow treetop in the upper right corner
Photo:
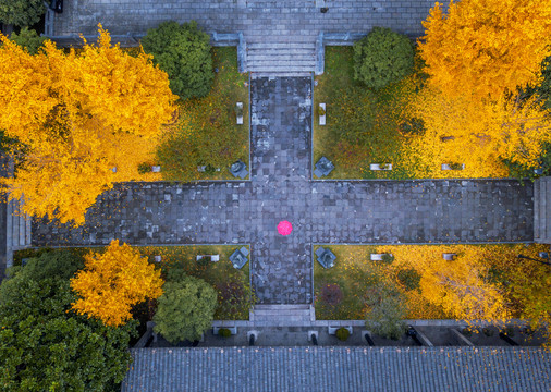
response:
[[[423,25],[429,83],[450,97],[497,99],[538,84],[551,54],[549,1],[452,0],[446,14],[437,2]]]

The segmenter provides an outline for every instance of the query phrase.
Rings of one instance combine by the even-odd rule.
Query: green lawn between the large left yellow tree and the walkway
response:
[[[235,180],[231,163],[248,164],[248,74],[237,70],[235,47],[212,48],[212,60],[218,72],[210,94],[180,101],[177,121],[166,127],[157,151],[163,180]],[[242,125],[236,102],[243,102]]]

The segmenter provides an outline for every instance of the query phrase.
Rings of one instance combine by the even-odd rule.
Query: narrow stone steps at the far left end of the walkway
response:
[[[30,246],[30,217],[20,213],[22,200],[8,203],[7,211],[7,267],[13,265],[13,252]]]

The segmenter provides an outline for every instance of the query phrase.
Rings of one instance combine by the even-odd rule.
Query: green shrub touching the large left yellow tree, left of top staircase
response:
[[[210,37],[195,21],[183,25],[163,22],[147,32],[142,45],[169,74],[172,93],[182,99],[209,94],[215,79]]]

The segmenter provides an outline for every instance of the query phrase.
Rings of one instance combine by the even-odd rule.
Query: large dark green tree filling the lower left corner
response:
[[[136,322],[110,328],[71,310],[82,260],[47,253],[10,271],[0,286],[3,391],[114,391],[130,365]]]

